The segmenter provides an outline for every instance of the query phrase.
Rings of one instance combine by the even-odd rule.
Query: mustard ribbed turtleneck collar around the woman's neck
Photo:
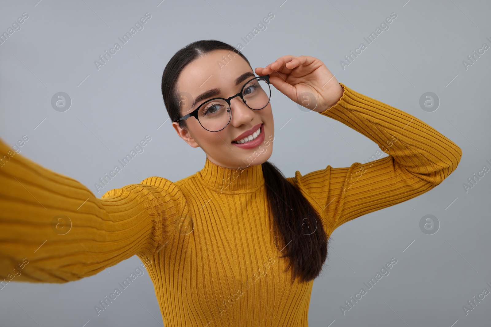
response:
[[[196,176],[208,188],[220,193],[253,192],[264,185],[261,164],[243,169],[230,169],[218,166],[207,157],[205,166],[196,173]]]

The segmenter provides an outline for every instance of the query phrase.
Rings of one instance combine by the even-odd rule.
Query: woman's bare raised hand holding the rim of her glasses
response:
[[[266,68],[256,68],[255,73],[270,75],[270,82],[277,90],[317,112],[326,111],[335,105],[344,91],[326,65],[311,56],[285,55]],[[311,99],[312,96],[315,99]]]

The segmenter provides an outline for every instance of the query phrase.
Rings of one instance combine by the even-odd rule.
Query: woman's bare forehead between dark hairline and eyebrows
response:
[[[187,65],[176,83],[177,92],[188,92],[196,97],[211,88],[222,92],[236,88],[235,79],[252,72],[243,57],[230,50],[214,50]]]

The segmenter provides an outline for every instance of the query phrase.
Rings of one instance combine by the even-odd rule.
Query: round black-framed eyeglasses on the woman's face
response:
[[[249,79],[236,95],[225,98],[213,98],[201,103],[191,113],[178,118],[175,122],[196,118],[201,126],[210,132],[218,132],[225,128],[232,118],[230,101],[240,97],[244,104],[252,110],[260,110],[268,105],[271,99],[270,75]]]

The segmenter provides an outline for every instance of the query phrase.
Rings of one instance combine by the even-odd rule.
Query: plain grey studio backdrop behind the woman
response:
[[[13,145],[27,135],[23,155],[99,197],[148,176],[176,181],[194,174],[205,154],[166,121],[160,93],[165,64],[196,40],[244,45],[241,37],[272,12],[267,28],[243,50],[253,68],[285,54],[317,57],[340,82],[421,119],[463,150],[458,169],[436,189],[332,234],[323,276],[314,282],[309,325],[489,326],[491,295],[467,316],[463,310],[484,288],[491,291],[491,173],[467,193],[463,187],[484,165],[491,168],[491,50],[467,70],[463,65],[483,43],[491,46],[489,1],[38,1],[0,2],[0,32],[29,15],[0,45],[0,137]],[[152,18],[144,29],[97,70],[99,55],[146,12]],[[340,60],[366,44],[363,37],[392,12],[397,18],[389,29],[343,70]],[[70,96],[69,110],[53,109],[57,92]],[[420,107],[425,92],[438,96],[436,111]],[[342,123],[301,111],[276,89],[272,104],[270,160],[285,176],[347,167],[379,150]],[[96,193],[94,183],[147,134],[152,141],[144,152]],[[427,214],[439,220],[436,234],[419,227]],[[390,274],[343,316],[340,306],[393,257]],[[162,326],[146,271],[100,316],[94,310],[139,264],[134,256],[110,273],[66,284],[9,283],[0,290],[0,325]]]

